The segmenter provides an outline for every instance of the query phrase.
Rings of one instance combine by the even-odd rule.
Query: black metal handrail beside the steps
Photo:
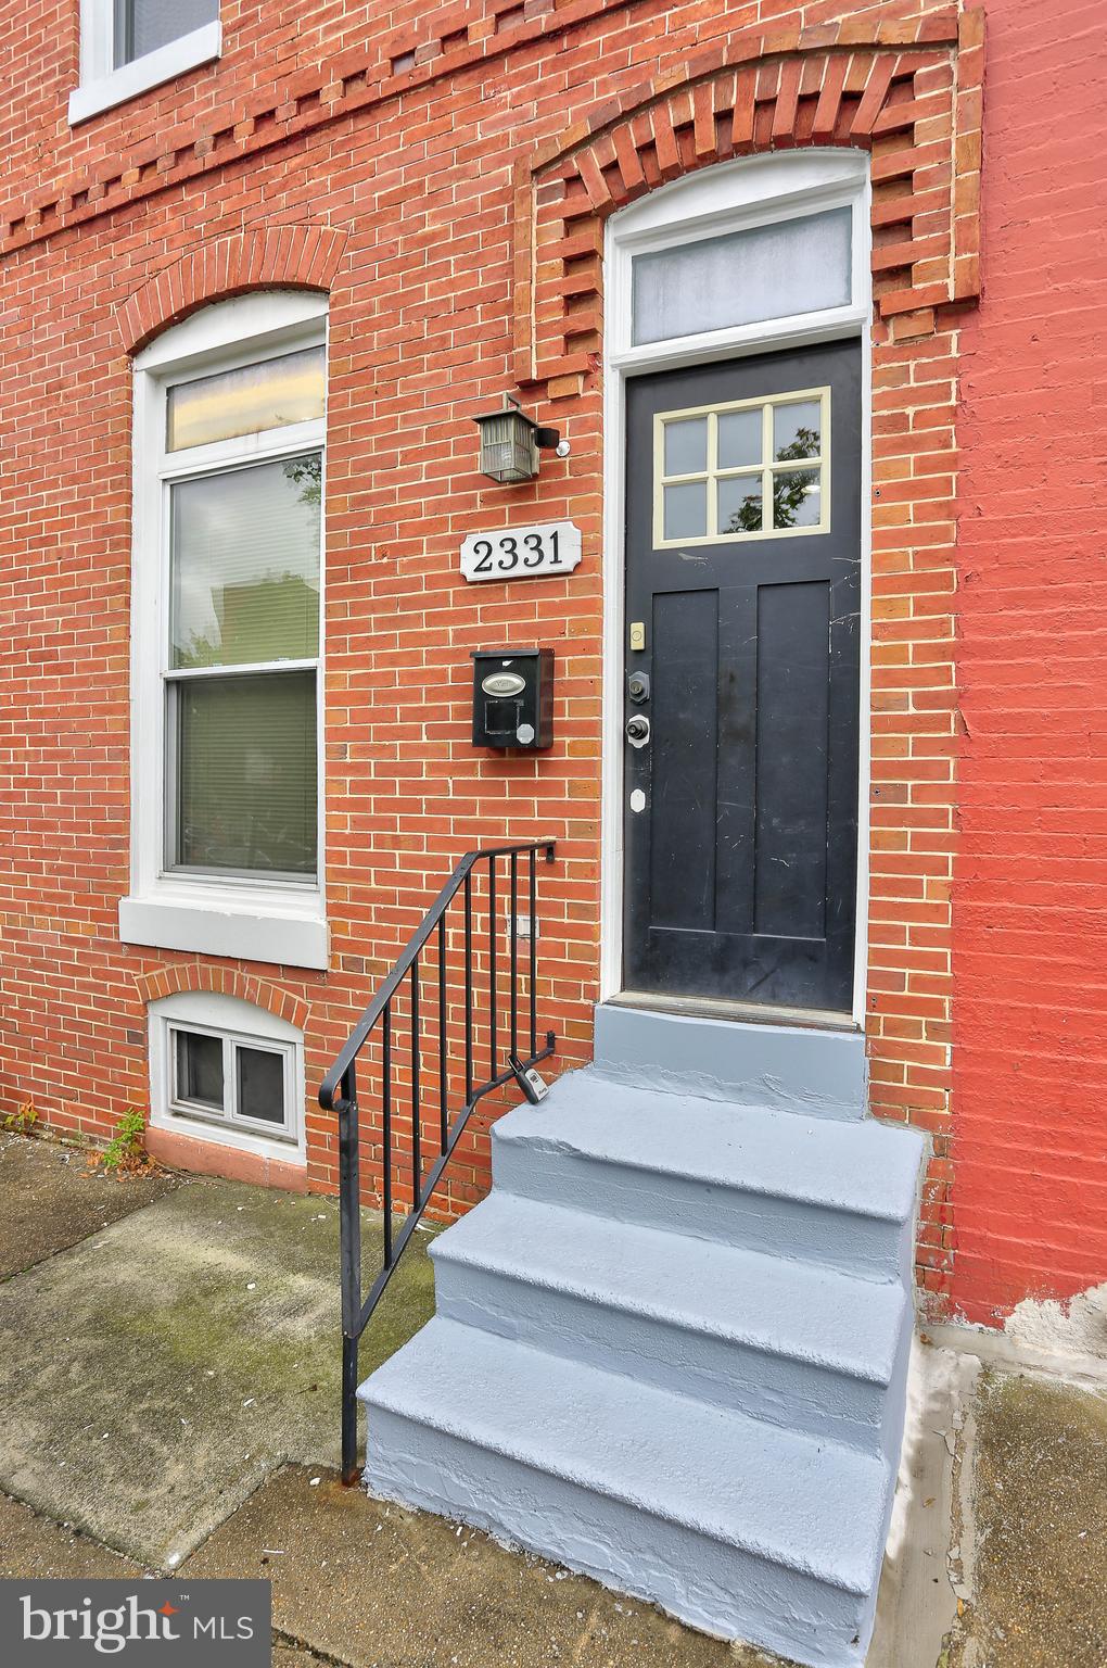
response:
[[[538,1009],[537,1009],[537,909],[538,909],[538,852],[545,852],[545,861],[554,862],[555,841],[543,839],[525,846],[487,846],[482,851],[467,852],[457,869],[445,882],[433,904],[420,921],[418,927],[400,952],[392,972],[380,986],[357,1026],[348,1042],[340,1051],[338,1059],[330,1068],[318,1091],[318,1104],[323,1111],[338,1114],[338,1234],[342,1264],[342,1480],[357,1481],[357,1359],[362,1333],[370,1316],[380,1303],[385,1286],[403,1254],[403,1248],[415,1233],[415,1228],[430,1203],[430,1198],[442,1179],[442,1173],[450,1163],[450,1156],[468,1123],[473,1108],[485,1094],[502,1089],[508,1083],[517,1083],[527,1099],[537,1099],[527,1073],[540,1059],[554,1053],[555,1036],[545,1032],[545,1048],[538,1048]],[[498,977],[498,921],[497,921],[497,862],[508,861],[508,1022],[507,1051],[500,1064],[500,977]],[[518,1012],[518,867],[520,859],[527,859],[528,902],[530,902],[530,954],[528,954],[528,1004],[530,1011],[523,1026],[528,1053],[523,1059],[520,1046],[520,1012]],[[473,979],[473,876],[478,864],[488,864],[487,882],[487,989],[478,991],[483,981]],[[450,1118],[450,1056],[448,1056],[448,929],[447,911],[453,899],[462,894],[463,909],[463,1068],[465,1094],[460,1111]],[[422,1151],[422,1034],[420,1034],[420,956],[423,949],[437,939],[437,1007],[438,1017],[433,1041],[437,1044],[437,1111],[438,1111],[438,1156],[423,1176]],[[395,1027],[393,1002],[407,989],[410,1019],[410,1174],[412,1174],[412,1208],[408,1209],[398,1233],[392,1224],[392,1169],[393,1169],[393,1063],[395,1063]],[[488,999],[488,1076],[477,1081],[477,1039],[473,1027],[473,1004],[478,994]],[[360,1216],[360,1126],[357,1101],[357,1064],[365,1044],[380,1026],[380,1144],[382,1144],[382,1206],[383,1206],[383,1263],[370,1293],[362,1299],[362,1216]]]

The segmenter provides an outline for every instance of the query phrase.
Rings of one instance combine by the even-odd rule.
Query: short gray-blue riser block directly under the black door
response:
[[[595,1064],[655,1091],[735,1106],[775,1106],[810,1118],[864,1118],[865,1039],[859,1031],[805,1031],[659,1014],[602,1002]]]

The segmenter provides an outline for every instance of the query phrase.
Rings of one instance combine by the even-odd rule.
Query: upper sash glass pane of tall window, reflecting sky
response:
[[[318,654],[322,455],[172,487],[172,664]]]

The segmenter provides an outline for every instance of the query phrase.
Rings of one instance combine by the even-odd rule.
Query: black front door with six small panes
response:
[[[624,987],[849,1009],[860,349],[627,390]]]

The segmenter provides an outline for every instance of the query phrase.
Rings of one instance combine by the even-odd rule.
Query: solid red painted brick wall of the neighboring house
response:
[[[1044,27],[1047,23],[1047,27]],[[1107,30],[989,7],[962,329],[954,1303],[1107,1279]]]

